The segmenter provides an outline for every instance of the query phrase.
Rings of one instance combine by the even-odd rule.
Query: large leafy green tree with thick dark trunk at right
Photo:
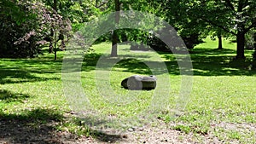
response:
[[[236,59],[245,59],[245,34],[256,27],[254,0],[199,1],[183,0],[190,17],[203,20],[213,27],[236,37]]]

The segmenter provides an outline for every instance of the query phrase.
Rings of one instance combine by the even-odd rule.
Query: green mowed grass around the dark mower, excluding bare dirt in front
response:
[[[58,53],[56,61],[54,55],[46,53],[34,59],[0,59],[0,120],[4,122],[0,133],[7,130],[3,127],[11,127],[11,122],[18,120],[24,129],[38,130],[38,126],[48,126],[48,133],[67,131],[78,137],[97,137],[84,124],[95,126],[100,121],[101,124],[128,129],[131,121],[131,124],[137,121],[137,116],[147,118],[152,115],[152,118],[148,117],[150,121],[160,119],[170,124],[172,130],[194,135],[194,141],[203,142],[204,137],[208,137],[227,143],[256,142],[256,72],[250,69],[252,50],[246,50],[247,60],[243,62],[233,61],[236,44],[228,40],[224,41],[222,50],[216,49],[217,42],[209,39],[207,43],[196,46],[190,52],[192,90],[189,97],[180,99],[183,76],[175,55],[130,51],[128,45],[120,44],[119,57],[109,58],[110,46],[111,43],[93,45],[95,51],[84,55],[81,67],[82,88],[92,111],[96,112],[95,119],[75,118],[73,113],[81,110],[79,99],[67,101],[73,95],[64,95],[61,82],[64,52]],[[108,66],[110,69],[106,68],[106,60],[113,64]],[[160,79],[157,88],[143,91],[121,88],[120,83],[126,77],[154,74],[144,64],[148,61],[153,63]],[[101,67],[101,64],[104,65]],[[175,108],[181,101],[187,102],[186,107],[176,113]],[[151,112],[154,106],[160,111]],[[82,111],[88,110],[82,108]],[[108,117],[113,121],[108,121]],[[122,125],[126,122],[127,125]],[[0,139],[19,139],[12,130],[9,133],[0,134]],[[39,137],[39,134],[34,133],[34,136]]]

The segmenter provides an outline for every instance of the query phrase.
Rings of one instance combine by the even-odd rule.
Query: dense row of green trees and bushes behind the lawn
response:
[[[236,58],[244,59],[246,41],[254,40],[255,36],[255,7],[254,0],[2,0],[0,56],[34,57],[42,53],[42,46],[49,44],[49,52],[55,52],[56,59],[56,51],[64,49],[68,37],[84,22],[110,11],[135,9],[166,20],[183,37],[188,49],[209,35],[218,38],[219,49],[222,37],[235,37]],[[128,39],[165,50],[165,43],[149,36],[148,32],[117,30],[98,41],[110,40],[114,46]],[[113,56],[117,55],[116,49],[113,47]]]

